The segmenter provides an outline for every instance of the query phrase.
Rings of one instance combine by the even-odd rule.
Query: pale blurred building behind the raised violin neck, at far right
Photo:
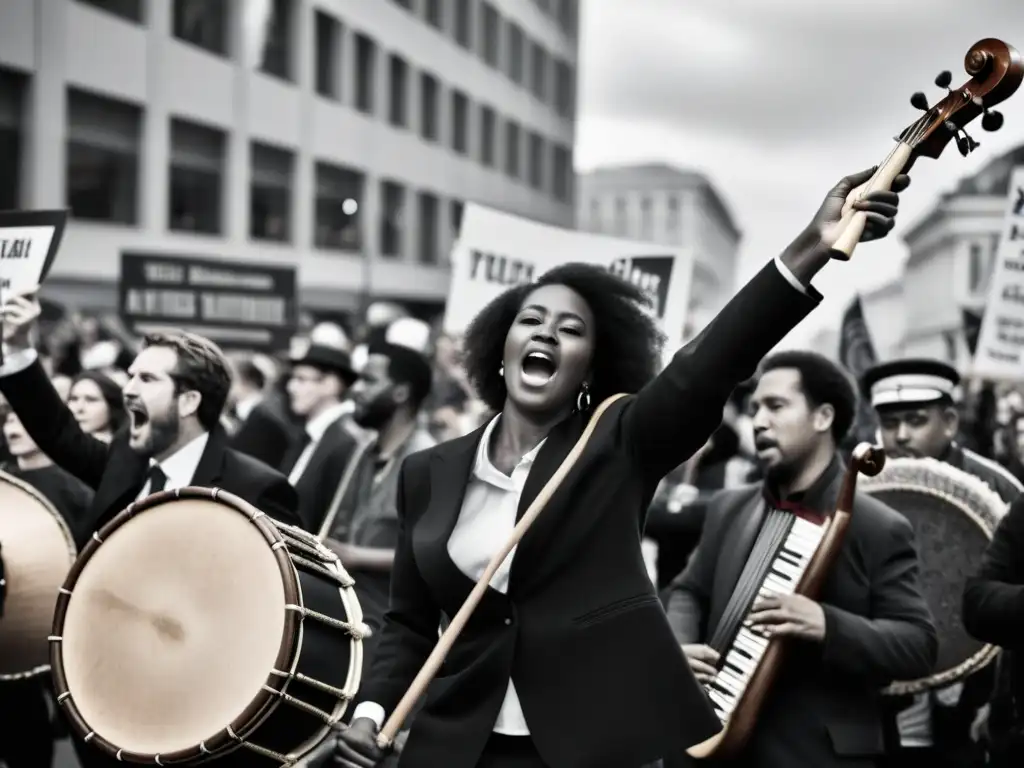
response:
[[[902,354],[938,357],[962,370],[970,365],[963,310],[984,307],[1010,177],[1022,164],[1024,145],[995,158],[904,234],[910,255],[902,280]]]

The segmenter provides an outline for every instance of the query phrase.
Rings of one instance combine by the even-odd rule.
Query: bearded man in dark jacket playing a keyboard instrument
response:
[[[715,636],[732,611],[737,585],[760,578],[758,561],[775,559],[765,541],[775,522],[792,514],[820,524],[836,509],[844,476],[837,445],[853,421],[856,393],[825,357],[782,352],[762,364],[751,408],[766,479],[711,501],[700,542],[670,588],[669,621],[705,682],[733,643]],[[787,642],[746,746],[724,765],[878,765],[884,749],[879,689],[928,674],[938,651],[906,519],[857,494],[819,600],[774,595],[736,608],[762,634]]]

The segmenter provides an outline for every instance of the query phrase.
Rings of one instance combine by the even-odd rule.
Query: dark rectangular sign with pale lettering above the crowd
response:
[[[298,326],[295,267],[121,254],[120,312],[132,332],[191,331],[225,347],[288,349]]]

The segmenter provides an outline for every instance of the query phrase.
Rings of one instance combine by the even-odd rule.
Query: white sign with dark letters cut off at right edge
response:
[[[1024,166],[1014,169],[972,373],[1024,378]]]

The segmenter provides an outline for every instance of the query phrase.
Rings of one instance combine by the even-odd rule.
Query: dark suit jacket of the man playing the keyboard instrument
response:
[[[837,457],[805,503],[834,510],[843,475]],[[764,515],[761,484],[713,499],[700,543],[671,588],[669,621],[679,643],[707,643],[714,633]],[[913,528],[882,502],[856,495],[818,602],[824,640],[790,641],[757,728],[736,761],[743,768],[873,765],[884,753],[880,689],[923,677],[935,665],[938,635],[921,590]]]

